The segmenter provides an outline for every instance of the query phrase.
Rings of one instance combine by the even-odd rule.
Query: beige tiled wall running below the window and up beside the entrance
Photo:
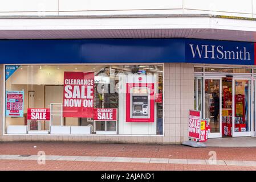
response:
[[[188,110],[194,107],[193,64],[165,64],[164,69],[164,137],[162,136],[79,136],[79,135],[3,135],[3,105],[0,105],[0,139],[2,141],[74,141],[102,143],[181,143],[188,140]],[[0,65],[3,86],[3,65]],[[3,90],[0,92],[3,103]]]

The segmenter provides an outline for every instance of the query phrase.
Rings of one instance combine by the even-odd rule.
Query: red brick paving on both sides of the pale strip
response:
[[[36,147],[34,147],[36,146]],[[216,151],[218,160],[256,161],[256,147],[192,148],[161,144],[106,144],[83,142],[1,142],[0,155],[112,156],[129,158],[209,159]],[[36,160],[0,160],[0,170],[255,170],[256,166],[217,166],[198,164],[123,163],[51,161],[45,165]]]

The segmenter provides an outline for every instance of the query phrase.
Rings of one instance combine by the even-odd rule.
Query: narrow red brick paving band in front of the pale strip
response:
[[[97,170],[97,171],[246,171],[256,167],[247,166],[206,166],[193,164],[148,164],[148,163],[113,163],[113,162],[74,162],[74,161],[46,161],[39,165],[35,160],[0,160],[0,170]]]

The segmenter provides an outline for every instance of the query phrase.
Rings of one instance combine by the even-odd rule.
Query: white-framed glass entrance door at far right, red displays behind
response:
[[[232,137],[251,135],[251,80],[233,78]]]

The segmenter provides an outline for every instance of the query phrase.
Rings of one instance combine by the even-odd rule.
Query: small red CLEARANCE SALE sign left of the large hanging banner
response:
[[[27,120],[50,120],[49,108],[28,108]]]

